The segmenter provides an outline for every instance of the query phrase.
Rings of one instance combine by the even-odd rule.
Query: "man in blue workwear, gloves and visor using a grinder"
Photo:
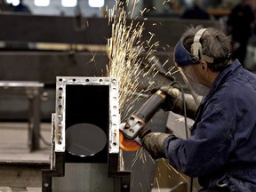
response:
[[[140,135],[153,158],[168,158],[177,171],[198,178],[199,191],[256,191],[256,76],[231,59],[230,41],[217,28],[196,26],[184,32],[173,57],[191,90],[184,101],[196,116],[191,135]],[[171,98],[165,109],[181,112],[180,90],[161,89]]]

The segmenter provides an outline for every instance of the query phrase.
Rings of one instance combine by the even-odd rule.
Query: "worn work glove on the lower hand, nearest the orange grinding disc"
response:
[[[164,140],[171,136],[162,132],[150,132],[141,139],[141,144],[148,153],[154,158],[166,158],[164,152]]]

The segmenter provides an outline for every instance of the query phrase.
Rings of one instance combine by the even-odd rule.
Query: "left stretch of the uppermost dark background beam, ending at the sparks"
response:
[[[23,43],[107,44],[111,29],[107,19],[12,13],[2,13],[0,24],[0,41]]]

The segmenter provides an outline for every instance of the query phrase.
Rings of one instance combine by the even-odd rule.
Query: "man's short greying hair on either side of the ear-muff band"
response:
[[[182,44],[188,52],[191,53],[191,45],[194,42],[194,37],[203,26],[196,28],[188,28],[181,36]],[[213,63],[207,62],[208,68],[213,72],[222,71],[232,63],[231,52],[231,37],[226,36],[217,28],[207,28],[203,36],[200,38],[202,45],[202,53],[213,58]]]

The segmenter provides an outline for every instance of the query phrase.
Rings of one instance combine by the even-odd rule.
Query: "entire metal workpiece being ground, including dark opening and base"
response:
[[[120,168],[118,92],[115,77],[56,77],[44,192],[130,191],[131,172]]]

